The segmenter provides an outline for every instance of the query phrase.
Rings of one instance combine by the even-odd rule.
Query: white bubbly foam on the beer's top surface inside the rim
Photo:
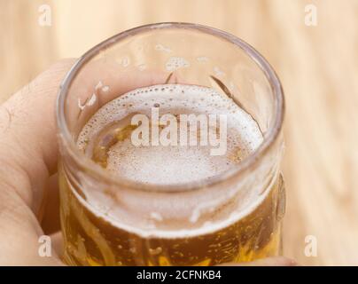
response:
[[[150,116],[152,106],[159,106],[160,114],[227,115],[226,154],[210,155],[210,145],[134,146],[127,139],[109,151],[107,170],[150,184],[191,182],[229,170],[261,144],[257,123],[232,99],[206,87],[166,84],[130,91],[102,106],[83,127],[77,145],[85,149],[106,125],[130,114]]]

